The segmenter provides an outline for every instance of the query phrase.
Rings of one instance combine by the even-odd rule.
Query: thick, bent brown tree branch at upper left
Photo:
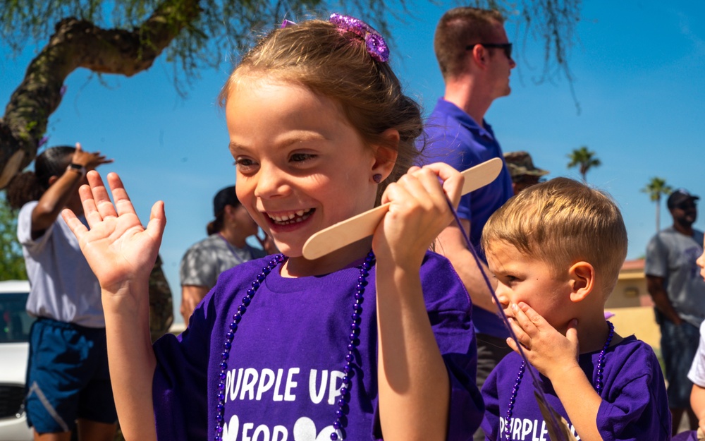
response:
[[[165,0],[132,31],[105,30],[76,18],[61,20],[47,46],[27,67],[0,119],[0,188],[37,155],[71,72],[80,67],[125,76],[145,71],[200,13],[198,0]]]

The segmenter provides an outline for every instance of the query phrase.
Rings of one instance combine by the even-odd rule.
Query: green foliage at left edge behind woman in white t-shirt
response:
[[[0,280],[26,280],[25,258],[17,241],[17,212],[0,192]]]

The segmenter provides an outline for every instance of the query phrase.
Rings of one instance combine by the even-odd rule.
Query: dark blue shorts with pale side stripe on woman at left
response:
[[[32,325],[26,411],[37,433],[73,431],[78,418],[117,422],[104,328],[48,318]]]

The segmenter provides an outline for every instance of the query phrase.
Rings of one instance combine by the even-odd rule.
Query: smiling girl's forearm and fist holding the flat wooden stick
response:
[[[443,179],[443,188],[439,185]],[[462,176],[447,164],[412,167],[386,189],[392,205],[377,227],[379,418],[386,441],[445,440],[450,380],[429,322],[419,268],[435,236],[450,223]]]

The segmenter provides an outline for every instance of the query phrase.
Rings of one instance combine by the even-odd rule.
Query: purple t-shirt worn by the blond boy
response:
[[[593,385],[599,354],[600,351],[596,351],[581,354],[578,358],[580,367]],[[519,354],[505,356],[482,387],[486,406],[482,430],[486,440],[506,440],[505,418],[521,363]],[[537,370],[534,369],[534,373]],[[580,435],[570,424],[568,413],[556,397],[551,382],[543,375],[539,375],[539,379],[548,404],[568,421],[573,435]],[[605,354],[603,385],[602,404],[596,421],[603,440],[670,440],[666,385],[651,346],[630,336],[609,348]],[[510,426],[510,440],[548,441],[546,422],[534,398],[528,368],[517,392]]]

